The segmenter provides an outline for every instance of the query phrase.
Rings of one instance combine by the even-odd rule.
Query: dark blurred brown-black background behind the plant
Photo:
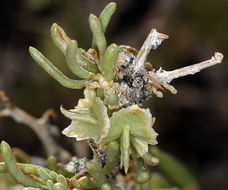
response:
[[[59,116],[54,123],[61,130],[69,124],[61,116],[59,105],[72,108],[82,91],[60,86],[32,60],[28,47],[37,47],[72,77],[63,55],[51,41],[50,27],[58,23],[80,47],[88,49],[92,38],[88,15],[98,15],[108,2],[1,1],[0,89],[7,92],[14,105],[36,117],[53,108]],[[106,32],[109,44],[137,49],[152,28],[168,34],[169,40],[148,58],[156,69],[194,64],[211,58],[215,51],[225,55],[221,65],[174,80],[177,95],[166,92],[163,99],[152,97],[144,105],[157,118],[159,146],[182,160],[205,190],[228,189],[227,10],[226,0],[119,0]],[[33,131],[10,118],[0,118],[3,139],[31,155],[43,155]],[[61,144],[68,150],[72,150],[70,142],[61,137]]]

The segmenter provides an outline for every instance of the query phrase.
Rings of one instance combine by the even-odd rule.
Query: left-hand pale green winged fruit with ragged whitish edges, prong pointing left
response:
[[[64,135],[77,140],[92,138],[96,143],[107,135],[110,128],[107,108],[100,98],[94,98],[94,93],[86,89],[86,98],[81,99],[75,109],[67,111],[61,108],[63,115],[72,120],[70,126],[63,130]]]

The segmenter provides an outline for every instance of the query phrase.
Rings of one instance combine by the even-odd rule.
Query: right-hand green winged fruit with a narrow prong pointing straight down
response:
[[[110,119],[111,127],[102,143],[120,140],[120,160],[125,173],[129,167],[131,149],[136,156],[143,157],[148,153],[148,145],[157,144],[157,133],[152,128],[152,115],[149,109],[142,109],[137,105],[123,108],[113,113]]]

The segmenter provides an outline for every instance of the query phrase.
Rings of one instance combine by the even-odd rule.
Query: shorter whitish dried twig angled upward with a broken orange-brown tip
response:
[[[146,61],[147,55],[150,53],[150,50],[156,49],[163,40],[168,38],[169,36],[158,33],[156,29],[151,30],[136,57],[135,72],[137,72],[141,68],[144,68],[144,62]]]

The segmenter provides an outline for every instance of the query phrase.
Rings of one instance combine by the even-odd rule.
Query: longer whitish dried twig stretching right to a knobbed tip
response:
[[[202,69],[211,67],[213,65],[217,65],[222,62],[223,54],[216,52],[211,59],[207,61],[203,61],[201,63],[197,63],[194,65],[190,65],[187,67],[183,67],[180,69],[176,69],[173,71],[164,71],[159,69],[156,72],[149,72],[149,74],[160,83],[170,83],[173,79],[183,77],[186,75],[193,75],[197,72],[200,72]]]

